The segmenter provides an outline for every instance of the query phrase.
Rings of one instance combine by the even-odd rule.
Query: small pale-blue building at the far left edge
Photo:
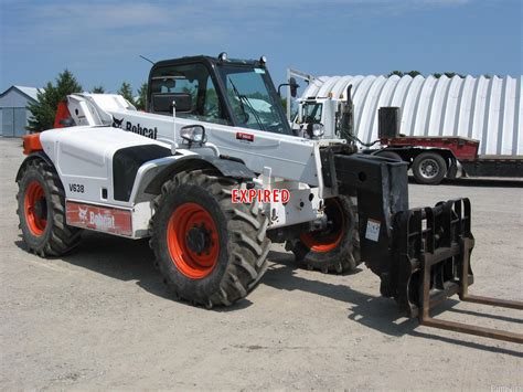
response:
[[[38,100],[38,92],[34,87],[11,86],[0,94],[0,136],[20,137],[28,133],[31,112],[26,106]]]

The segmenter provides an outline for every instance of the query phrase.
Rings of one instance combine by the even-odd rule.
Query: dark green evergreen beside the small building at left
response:
[[[64,70],[56,77],[56,85],[47,82],[43,91],[38,93],[38,102],[28,104],[31,117],[25,128],[31,133],[53,128],[58,103],[65,100],[67,95],[79,92],[82,86],[68,70]]]

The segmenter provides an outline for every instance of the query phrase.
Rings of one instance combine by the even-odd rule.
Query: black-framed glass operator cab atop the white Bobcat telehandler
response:
[[[192,56],[156,63],[149,74],[150,113],[292,135],[281,100],[259,60]]]

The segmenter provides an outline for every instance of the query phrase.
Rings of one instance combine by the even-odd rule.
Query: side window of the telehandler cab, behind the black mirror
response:
[[[152,113],[171,115],[172,106],[156,105],[162,96],[185,94],[191,98],[189,112],[177,113],[183,118],[193,118],[200,121],[228,124],[222,108],[213,80],[203,64],[172,65],[154,70],[151,77],[151,108]]]

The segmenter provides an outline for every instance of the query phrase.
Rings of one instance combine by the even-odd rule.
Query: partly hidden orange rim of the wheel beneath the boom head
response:
[[[325,201],[327,219],[331,221],[325,230],[302,233],[300,240],[313,252],[324,253],[334,250],[345,233],[345,215],[337,199]]]

